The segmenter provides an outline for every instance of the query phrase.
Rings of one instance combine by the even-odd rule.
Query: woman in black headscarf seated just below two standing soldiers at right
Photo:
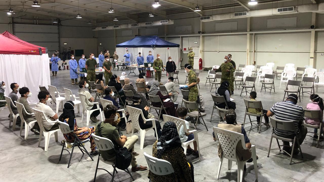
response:
[[[228,106],[227,109],[234,109],[235,110],[236,109],[236,103],[231,101],[230,92],[227,89],[228,85],[229,85],[228,81],[226,81],[226,80],[223,81],[221,83],[221,86],[216,89],[216,95],[218,94],[220,96],[224,96],[224,98],[226,100],[226,103],[227,103],[227,106]],[[219,108],[225,108],[226,104],[225,104],[225,102],[223,102],[223,103],[218,103],[218,102],[216,103],[215,102],[215,106],[218,106]]]

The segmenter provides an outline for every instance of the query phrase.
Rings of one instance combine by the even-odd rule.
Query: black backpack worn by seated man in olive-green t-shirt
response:
[[[98,133],[101,136],[101,125],[102,122],[98,124]],[[115,159],[115,167],[121,170],[125,170],[129,167],[132,161],[132,154],[127,150],[126,147],[119,147],[119,145],[115,144],[115,141],[112,141],[112,143],[115,146],[115,152],[116,152],[116,159]]]

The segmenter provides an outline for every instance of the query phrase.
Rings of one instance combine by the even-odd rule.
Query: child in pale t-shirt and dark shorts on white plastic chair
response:
[[[177,113],[178,113],[178,117],[180,119],[184,120],[187,117],[188,110],[187,110],[187,108],[184,108],[184,107],[178,108]],[[188,132],[189,122],[185,120],[185,123],[186,123],[187,129],[184,129],[184,127],[182,125],[180,128],[180,132],[179,132],[179,137],[180,137],[181,142],[189,142],[194,139],[193,133],[186,133],[186,132]],[[185,131],[185,130],[187,130],[187,131]],[[199,157],[196,141],[193,142],[193,147],[194,147],[194,149],[192,150],[190,145],[188,145],[186,155],[192,154],[193,156]]]

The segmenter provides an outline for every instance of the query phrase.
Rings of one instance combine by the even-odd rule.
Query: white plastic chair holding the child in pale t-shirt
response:
[[[199,160],[201,160],[200,149],[199,149],[199,141],[198,141],[198,131],[197,130],[188,131],[188,128],[186,126],[186,121],[183,120],[183,119],[180,119],[180,118],[176,118],[176,117],[173,117],[173,116],[163,114],[163,120],[164,120],[164,122],[167,122],[167,121],[174,122],[174,124],[176,124],[176,126],[177,126],[178,134],[180,134],[181,126],[183,126],[183,129],[186,131],[186,133],[188,133],[188,134],[193,133],[194,139],[191,140],[191,141],[188,141],[188,142],[181,142],[181,146],[182,146],[182,148],[184,150],[184,154],[186,154],[188,145],[190,143],[196,141],[197,142],[197,150],[199,152]]]

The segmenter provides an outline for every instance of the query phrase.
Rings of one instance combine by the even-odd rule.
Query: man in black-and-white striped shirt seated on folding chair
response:
[[[275,103],[270,110],[267,112],[267,116],[275,115],[275,119],[280,119],[284,121],[294,121],[295,131],[297,133],[297,139],[301,145],[306,137],[307,128],[303,125],[304,121],[304,109],[297,105],[298,97],[296,94],[289,94],[286,101]],[[274,134],[284,137],[294,139],[294,131],[285,131],[280,129],[274,129]],[[283,150],[291,154],[292,147],[290,147],[289,142],[283,141]],[[298,145],[295,144],[294,155],[298,154]]]

